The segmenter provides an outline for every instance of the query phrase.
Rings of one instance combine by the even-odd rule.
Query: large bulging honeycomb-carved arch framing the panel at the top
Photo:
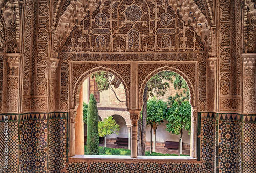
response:
[[[103,6],[106,0],[77,0],[71,1],[67,9],[61,15],[56,30],[54,32],[54,57],[58,57],[59,51],[65,44],[67,37],[73,30],[75,23],[80,23],[84,17],[90,13],[92,14],[96,7]],[[166,1],[162,0],[162,3],[166,5]],[[186,24],[190,24],[194,28],[194,31],[200,36],[201,41],[204,43],[205,48],[208,49],[209,42],[211,41],[211,30],[208,24],[207,18],[194,3],[194,1],[180,1],[169,0],[167,2],[171,6],[175,13],[179,13]],[[56,9],[55,15],[58,14]]]

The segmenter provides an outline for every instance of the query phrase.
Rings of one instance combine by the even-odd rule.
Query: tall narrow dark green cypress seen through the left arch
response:
[[[94,95],[90,95],[87,112],[87,154],[99,154],[99,132],[98,132],[99,114],[97,102]]]

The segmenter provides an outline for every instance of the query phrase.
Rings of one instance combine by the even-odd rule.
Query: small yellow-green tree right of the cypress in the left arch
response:
[[[116,124],[116,121],[113,119],[112,116],[108,116],[107,118],[104,118],[104,121],[99,122],[99,136],[100,137],[105,137],[110,134],[116,133],[117,135],[119,134],[119,125]],[[105,149],[105,143],[106,141],[104,140],[104,149]]]

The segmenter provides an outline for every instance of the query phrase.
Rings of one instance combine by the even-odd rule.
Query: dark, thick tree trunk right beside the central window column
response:
[[[147,112],[147,91],[148,87],[147,84],[144,89],[144,94],[143,94],[143,111],[142,111],[142,129],[141,129],[141,149],[142,149],[142,156],[145,156],[146,152],[146,112]]]

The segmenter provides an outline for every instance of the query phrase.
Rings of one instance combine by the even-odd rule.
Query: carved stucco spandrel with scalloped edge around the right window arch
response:
[[[139,64],[139,71],[141,71],[141,67],[140,65],[142,64]],[[191,70],[193,70],[195,72],[195,64],[194,63],[190,63],[190,64],[143,64],[145,66],[148,66],[146,67],[147,69],[149,69],[149,71],[144,71],[145,73],[145,76],[146,77],[139,77],[139,107],[141,107],[143,105],[143,92],[144,92],[144,88],[145,88],[145,85],[147,83],[148,80],[150,80],[150,78],[152,76],[154,76],[156,73],[160,72],[160,71],[164,71],[164,70],[168,70],[168,71],[173,71],[177,74],[179,74],[180,76],[182,76],[184,78],[184,80],[187,82],[187,85],[188,85],[188,88],[189,88],[189,91],[190,91],[190,104],[192,107],[197,107],[196,106],[196,94],[195,94],[195,73],[194,75],[189,75],[187,76],[186,74],[189,74],[189,73],[184,73],[183,71],[180,70],[179,67],[172,67],[172,66],[175,66],[175,65],[181,65],[185,68],[190,68]],[[189,66],[190,67],[186,67],[186,66]],[[153,68],[150,68],[153,67]],[[160,67],[161,66],[161,67]],[[193,68],[194,67],[194,68]],[[144,67],[145,68],[145,67]],[[190,80],[191,79],[191,80]]]

